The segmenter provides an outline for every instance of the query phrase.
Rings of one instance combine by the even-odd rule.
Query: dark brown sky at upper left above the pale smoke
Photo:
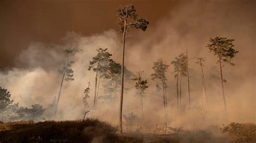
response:
[[[118,30],[116,9],[125,4],[136,6],[153,26],[169,15],[177,1],[1,1],[0,69],[25,66],[15,65],[15,58],[31,42],[56,44],[68,31],[87,36]]]

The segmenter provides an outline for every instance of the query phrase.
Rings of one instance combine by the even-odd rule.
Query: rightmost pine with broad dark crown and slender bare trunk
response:
[[[222,69],[225,65],[224,63],[227,63],[231,66],[234,66],[234,63],[231,62],[232,58],[234,58],[235,54],[238,53],[233,47],[233,41],[234,39],[227,39],[227,38],[221,38],[221,37],[215,37],[214,39],[210,38],[210,43],[206,47],[209,48],[210,52],[214,55],[217,55],[220,67],[220,78],[221,78],[221,85],[222,85],[222,91],[223,91],[223,103],[224,108],[227,116],[227,106],[226,106],[226,100],[225,100],[225,91],[224,91],[224,79],[223,79],[223,72]]]

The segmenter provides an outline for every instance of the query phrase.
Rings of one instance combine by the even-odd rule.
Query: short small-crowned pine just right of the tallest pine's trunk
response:
[[[143,72],[137,72],[136,74],[134,74],[132,80],[136,81],[135,88],[137,89],[137,94],[140,97],[140,101],[142,105],[142,118],[143,118],[143,97],[145,97],[145,90],[149,86],[147,86],[147,80],[143,80],[142,73]]]

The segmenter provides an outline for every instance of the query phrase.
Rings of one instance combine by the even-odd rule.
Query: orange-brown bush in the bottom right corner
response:
[[[230,123],[220,128],[232,142],[256,142],[256,125],[253,123]]]

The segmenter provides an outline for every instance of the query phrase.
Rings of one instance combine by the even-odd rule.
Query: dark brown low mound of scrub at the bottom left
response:
[[[116,128],[97,119],[1,124],[0,142],[91,142],[116,138]]]

